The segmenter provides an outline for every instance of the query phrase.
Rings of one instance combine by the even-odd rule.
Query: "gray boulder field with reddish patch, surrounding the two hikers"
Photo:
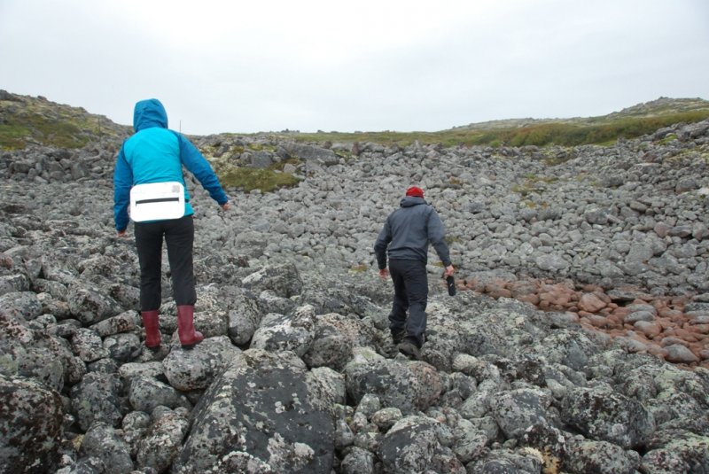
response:
[[[144,349],[118,144],[0,153],[0,472],[709,472],[709,121],[573,148],[205,136],[188,178],[195,322],[167,259]],[[448,229],[421,361],[397,354],[372,245],[411,184]],[[129,229],[130,230],[130,229]]]

